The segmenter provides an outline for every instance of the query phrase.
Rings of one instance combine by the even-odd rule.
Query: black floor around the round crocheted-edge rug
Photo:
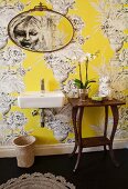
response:
[[[31,168],[18,168],[15,158],[0,158],[0,185],[22,173],[51,172],[63,176],[76,189],[128,189],[128,149],[115,150],[120,167],[114,167],[109,156],[103,152],[83,155],[79,169],[73,173],[76,156],[68,155],[35,157]]]

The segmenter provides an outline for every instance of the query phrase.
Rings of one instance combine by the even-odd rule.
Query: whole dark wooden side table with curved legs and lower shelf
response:
[[[75,132],[75,146],[72,156],[76,152],[78,148],[77,160],[73,171],[76,171],[79,165],[83,148],[98,147],[98,146],[104,146],[105,151],[106,151],[106,146],[109,147],[110,158],[114,165],[118,167],[119,163],[116,161],[113,151],[113,141],[114,141],[114,137],[119,119],[118,106],[125,105],[126,102],[116,99],[103,100],[100,102],[93,101],[92,99],[86,99],[85,101],[82,101],[81,99],[77,98],[70,98],[68,101],[72,105],[72,119],[73,119],[73,126]],[[83,112],[85,107],[105,107],[105,128],[104,128],[104,135],[102,137],[82,138],[82,119],[83,119]],[[107,138],[108,107],[110,107],[113,112],[113,118],[114,118],[114,125],[113,125],[110,138]]]

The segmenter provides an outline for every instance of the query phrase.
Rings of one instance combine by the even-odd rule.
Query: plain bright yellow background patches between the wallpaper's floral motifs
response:
[[[24,4],[28,4],[28,0],[22,0]],[[46,1],[41,1],[44,4],[47,4],[49,8],[52,6],[50,3],[46,3]],[[93,0],[93,2],[97,2],[97,0]],[[38,6],[40,1],[32,0],[29,6],[24,8],[23,11],[26,11],[34,6]],[[82,46],[82,49],[85,52],[95,53],[96,51],[99,51],[98,56],[95,60],[89,62],[89,78],[95,78],[96,83],[93,83],[90,87],[89,97],[95,94],[98,90],[98,73],[95,71],[94,67],[99,68],[102,66],[103,56],[105,57],[106,62],[109,62],[109,60],[114,56],[114,50],[110,47],[110,43],[108,41],[108,38],[104,36],[102,29],[100,29],[100,21],[99,21],[99,13],[95,10],[95,8],[92,6],[89,0],[76,0],[76,3],[74,4],[74,9],[68,9],[67,17],[70,16],[78,16],[82,18],[82,20],[85,22],[85,27],[82,30],[82,34],[85,39],[88,38],[88,40],[85,41],[85,43]],[[9,40],[8,46],[15,46],[11,40]],[[23,50],[23,52],[26,54],[22,66],[24,69],[30,69],[30,71],[26,72],[26,74],[23,77],[23,82],[25,84],[25,91],[39,91],[40,90],[40,81],[41,79],[44,79],[45,82],[45,89],[46,90],[56,90],[61,89],[61,83],[56,80],[54,77],[54,73],[52,69],[47,68],[45,61],[44,61],[44,53],[42,52],[32,52],[28,50]],[[76,78],[78,76],[77,73],[78,68],[76,68],[76,72],[70,73],[68,79]],[[84,72],[83,72],[84,73]],[[18,96],[18,94],[17,94]],[[40,127],[40,117],[32,116],[33,109],[20,109],[18,106],[13,106],[11,108],[11,111],[20,111],[25,115],[28,118],[28,122],[24,126],[24,130],[30,132],[30,135],[33,135],[36,137],[36,145],[51,145],[51,143],[57,143],[58,140],[55,139],[53,131],[51,129],[47,129],[46,127],[41,128]],[[83,125],[86,122],[86,127],[83,127],[83,136],[95,136],[95,131],[92,129],[92,126],[98,126],[100,122],[100,119],[103,118],[103,108],[86,108],[83,119]],[[93,119],[92,119],[93,118]],[[73,132],[68,132],[70,139],[74,138]],[[67,140],[66,138],[66,140]],[[64,140],[63,142],[66,142]]]

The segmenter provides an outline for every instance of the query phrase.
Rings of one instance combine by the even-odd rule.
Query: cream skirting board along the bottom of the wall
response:
[[[49,155],[64,155],[73,151],[74,143],[57,143],[57,145],[38,145],[35,146],[35,156],[49,156]],[[114,149],[128,149],[128,139],[116,139],[114,141]],[[103,147],[84,148],[84,152],[102,151]],[[14,146],[1,146],[0,158],[15,157]]]

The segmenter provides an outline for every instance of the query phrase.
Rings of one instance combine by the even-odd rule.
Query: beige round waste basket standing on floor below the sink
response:
[[[18,167],[29,168],[34,163],[34,142],[33,136],[20,136],[13,140]]]

